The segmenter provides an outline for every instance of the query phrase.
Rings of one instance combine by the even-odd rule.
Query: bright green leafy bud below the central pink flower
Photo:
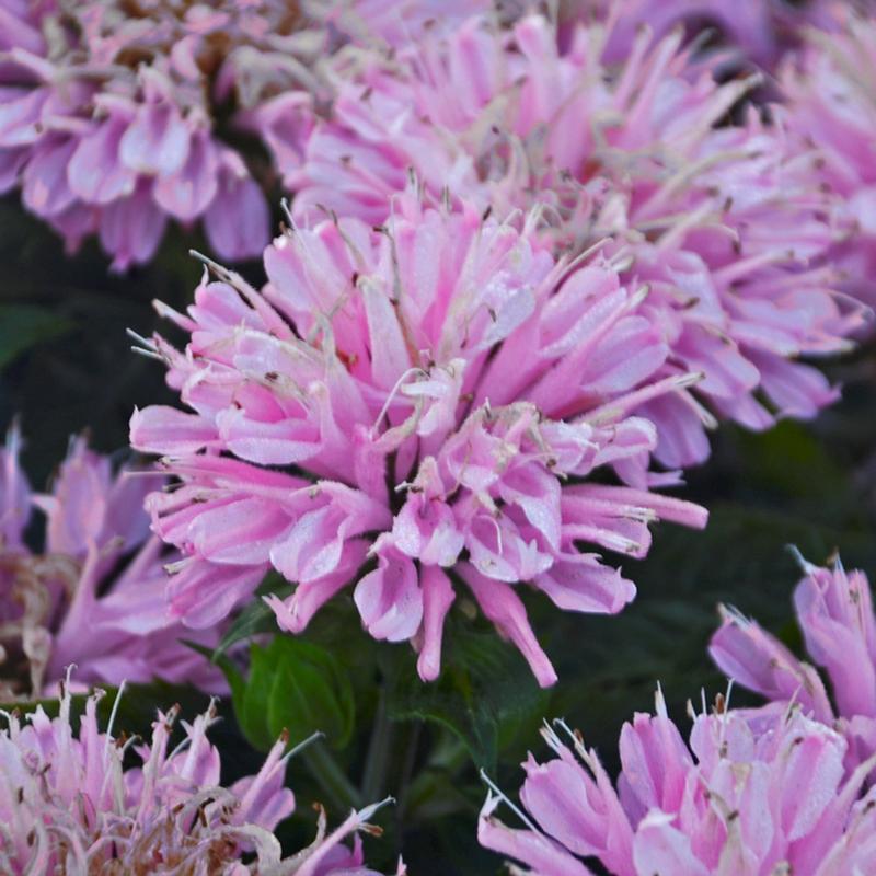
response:
[[[293,740],[322,731],[335,748],[353,734],[353,687],[331,652],[280,635],[250,649],[250,676],[232,684],[241,729],[258,749],[269,748],[283,730]]]

